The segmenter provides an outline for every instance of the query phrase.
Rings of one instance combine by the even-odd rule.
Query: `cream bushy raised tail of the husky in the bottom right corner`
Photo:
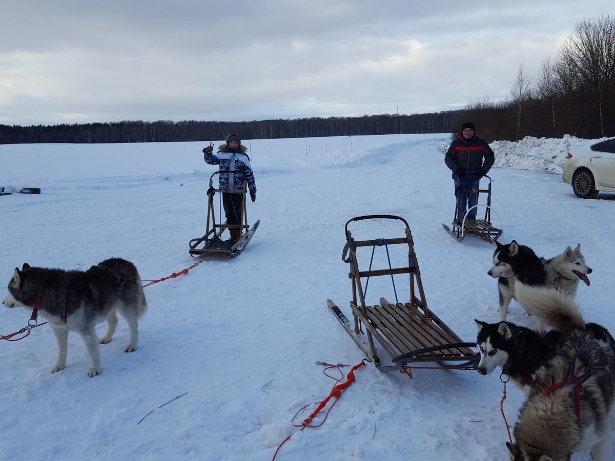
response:
[[[536,315],[557,331],[585,328],[585,320],[575,302],[555,288],[527,286],[515,282],[515,299],[526,312]]]

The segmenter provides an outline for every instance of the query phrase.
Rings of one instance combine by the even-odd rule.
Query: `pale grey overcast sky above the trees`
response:
[[[506,98],[613,0],[0,0],[0,124],[411,114]]]

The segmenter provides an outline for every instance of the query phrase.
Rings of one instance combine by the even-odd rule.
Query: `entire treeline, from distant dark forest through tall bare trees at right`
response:
[[[506,100],[480,100],[458,111],[362,117],[206,122],[159,120],[74,125],[0,125],[0,144],[159,143],[411,133],[456,133],[472,121],[487,141],[525,136],[615,136],[615,18],[581,20],[557,57],[531,73],[519,66]]]

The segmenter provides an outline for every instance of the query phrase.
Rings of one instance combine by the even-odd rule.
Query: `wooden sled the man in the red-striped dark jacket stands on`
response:
[[[470,171],[473,173],[473,171]],[[486,205],[474,205],[474,207],[468,208],[463,216],[459,216],[459,200],[461,200],[461,194],[459,192],[472,192],[474,189],[461,189],[459,188],[455,194],[457,201],[455,203],[455,214],[453,218],[452,229],[446,224],[442,224],[442,227],[449,234],[453,235],[456,240],[462,240],[466,235],[474,235],[475,237],[484,238],[485,240],[498,240],[498,237],[502,235],[502,229],[493,227],[491,224],[491,178],[487,175],[484,176],[489,179],[489,186],[486,189],[476,189],[475,192],[483,192],[487,194]],[[484,219],[467,219],[468,212],[472,208],[485,207]]]

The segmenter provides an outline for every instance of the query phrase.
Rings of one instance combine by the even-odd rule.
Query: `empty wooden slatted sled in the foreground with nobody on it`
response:
[[[348,225],[365,219],[397,219],[405,224],[405,235],[400,238],[354,240]],[[407,366],[408,363],[417,362],[435,362],[440,365],[447,365],[449,362],[463,362],[454,365],[455,368],[477,369],[480,354],[470,349],[476,347],[476,342],[461,341],[459,336],[427,307],[412,234],[405,219],[392,215],[359,216],[350,219],[346,223],[345,229],[346,246],[344,246],[342,259],[350,264],[349,278],[352,282],[350,307],[354,325],[351,326],[350,321],[331,299],[327,299],[327,305],[363,353],[381,371],[397,370],[402,366]],[[398,245],[401,245],[401,247]],[[360,270],[357,261],[357,248],[370,246],[372,248],[370,267],[368,270]],[[373,269],[371,267],[376,246],[384,246],[386,249],[388,268]],[[397,246],[395,250],[392,248],[394,246]],[[391,251],[389,251],[389,248],[391,248]],[[406,250],[408,251],[408,265],[391,267],[391,254],[395,252],[395,255],[405,258]],[[409,302],[397,300],[393,275],[400,274],[408,274],[410,279]],[[391,276],[395,291],[395,302],[389,302],[384,297],[380,297],[379,304],[367,305],[365,290],[367,290],[370,277],[382,275]],[[365,331],[363,331],[363,328]],[[378,347],[386,350],[389,354],[394,363],[392,366],[381,363],[378,357]]]

